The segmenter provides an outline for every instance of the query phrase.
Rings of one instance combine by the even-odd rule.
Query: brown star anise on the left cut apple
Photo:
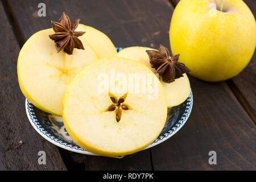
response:
[[[49,35],[49,38],[54,40],[57,52],[64,49],[64,52],[72,55],[74,48],[84,49],[81,40],[77,37],[83,35],[85,32],[75,32],[79,22],[80,19],[76,19],[75,22],[71,23],[65,12],[60,17],[59,23],[51,21],[55,34]]]

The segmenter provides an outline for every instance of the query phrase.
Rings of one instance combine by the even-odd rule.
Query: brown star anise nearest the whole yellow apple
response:
[[[183,77],[184,73],[190,72],[185,64],[179,63],[177,60],[180,55],[170,57],[166,47],[160,45],[159,51],[146,51],[152,68],[156,69],[155,73],[162,76],[164,82],[170,83],[176,78]]]

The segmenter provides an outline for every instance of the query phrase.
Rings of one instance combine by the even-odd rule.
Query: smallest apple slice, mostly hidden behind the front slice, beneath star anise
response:
[[[152,72],[155,72],[155,68],[151,68],[150,59],[146,50],[157,51],[156,49],[148,47],[128,47],[118,52],[117,56],[139,61],[140,63],[146,65],[146,67],[150,68]],[[183,77],[175,79],[175,81],[171,82],[170,84],[163,81],[161,81],[161,83],[164,90],[166,90],[168,107],[181,104],[188,98],[190,94],[191,89],[186,73],[183,74]]]

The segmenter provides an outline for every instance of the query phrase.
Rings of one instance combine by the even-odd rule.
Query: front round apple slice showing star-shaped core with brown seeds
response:
[[[136,81],[133,85],[127,80],[143,76],[147,80],[139,81],[138,92]],[[155,89],[142,91],[152,86]],[[65,129],[79,146],[102,156],[142,150],[158,137],[166,118],[166,93],[158,78],[144,65],[122,57],[89,64],[73,78],[64,97]]]

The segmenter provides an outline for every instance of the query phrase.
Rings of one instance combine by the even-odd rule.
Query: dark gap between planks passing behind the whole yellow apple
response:
[[[168,0],[168,1],[171,3],[171,5],[174,7],[174,9],[175,9],[177,3],[179,2],[179,0]],[[251,58],[251,59],[253,59],[253,58]],[[253,120],[254,124],[256,125],[256,115],[254,114],[253,108],[251,107],[249,102],[246,100],[246,98],[243,97],[242,93],[237,88],[236,84],[234,84],[234,81],[232,80],[232,78],[229,80],[226,80],[225,82],[226,82],[226,84],[228,84],[229,89],[232,91],[234,96],[237,98],[238,102],[241,104],[243,109],[246,111],[246,113],[249,115],[251,120]]]

